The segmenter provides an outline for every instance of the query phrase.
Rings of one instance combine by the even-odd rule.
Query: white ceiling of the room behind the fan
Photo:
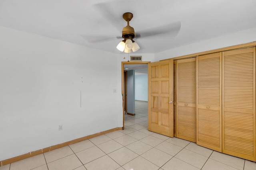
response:
[[[255,7],[256,0],[0,0],[0,25],[122,53],[116,37],[127,24],[122,14],[132,12],[136,33],[170,30],[134,39],[136,53],[158,53],[256,27]]]

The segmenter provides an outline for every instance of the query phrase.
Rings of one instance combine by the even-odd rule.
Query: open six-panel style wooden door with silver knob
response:
[[[148,130],[173,137],[173,60],[148,64]]]

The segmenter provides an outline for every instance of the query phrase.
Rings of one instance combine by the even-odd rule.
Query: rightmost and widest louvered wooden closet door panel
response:
[[[256,161],[255,47],[222,60],[222,152]]]

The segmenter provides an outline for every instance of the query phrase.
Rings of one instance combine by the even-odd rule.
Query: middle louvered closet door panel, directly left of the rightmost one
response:
[[[221,53],[198,56],[197,145],[222,152]]]

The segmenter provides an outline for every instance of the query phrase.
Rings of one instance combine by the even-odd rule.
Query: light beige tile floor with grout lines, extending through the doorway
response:
[[[256,170],[256,163],[147,130],[147,103],[136,101],[125,129],[0,167],[0,170]]]

